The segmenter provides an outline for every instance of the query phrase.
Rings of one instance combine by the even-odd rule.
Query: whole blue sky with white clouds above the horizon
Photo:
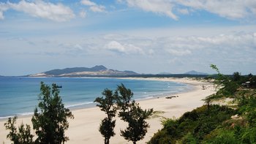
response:
[[[256,75],[255,0],[0,0],[0,75],[94,67]]]

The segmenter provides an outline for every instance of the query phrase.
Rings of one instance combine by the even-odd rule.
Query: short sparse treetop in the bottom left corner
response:
[[[4,124],[5,128],[10,130],[10,133],[7,134],[7,138],[9,138],[14,144],[33,144],[33,135],[30,133],[30,126],[26,124],[21,124],[17,128],[15,127],[17,120],[17,116],[14,118],[8,118],[7,123]]]

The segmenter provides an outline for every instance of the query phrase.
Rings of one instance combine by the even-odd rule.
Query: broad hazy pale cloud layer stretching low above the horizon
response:
[[[199,29],[199,31],[203,30]],[[252,32],[241,31],[241,29],[237,29],[237,31],[221,31],[222,33],[219,34],[207,35],[195,33],[173,37],[156,35],[152,38],[148,37],[150,34],[141,36],[131,33],[95,34],[88,37],[74,34],[46,38],[51,42],[45,42],[36,37],[29,39],[29,41],[35,42],[36,46],[29,45],[18,38],[13,40],[3,38],[0,39],[0,43],[3,45],[1,56],[17,53],[17,51],[18,53],[43,53],[54,56],[54,58],[68,60],[65,63],[70,65],[78,64],[77,61],[91,62],[90,59],[94,59],[95,63],[107,65],[111,63],[113,67],[118,67],[118,64],[130,64],[129,66],[132,67],[130,69],[145,73],[177,73],[192,69],[212,72],[208,67],[209,64],[217,64],[219,69],[226,74],[236,71],[242,72],[244,75],[256,72],[253,67],[256,64],[256,31],[255,29]],[[142,31],[137,32],[143,33]],[[59,45],[62,42],[68,45]],[[57,53],[59,56],[56,56]],[[16,55],[7,56],[15,57]],[[19,56],[28,58],[29,54]],[[38,56],[31,54],[29,58],[31,59],[31,57]],[[109,60],[110,57],[118,59],[118,61]],[[37,58],[35,61],[38,61]],[[140,61],[140,66],[138,61]],[[50,63],[50,61],[48,62]],[[63,61],[61,62],[63,63]],[[79,64],[83,65],[83,62]],[[141,67],[142,65],[143,67]],[[238,65],[239,67],[237,67]],[[144,66],[150,66],[150,68],[146,69],[147,67]]]

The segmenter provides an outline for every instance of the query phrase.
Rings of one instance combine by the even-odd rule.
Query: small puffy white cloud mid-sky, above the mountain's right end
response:
[[[124,44],[121,45],[121,43],[116,42],[116,41],[111,41],[107,45],[105,45],[105,48],[108,50],[113,50],[118,53],[125,53],[125,54],[130,54],[130,53],[139,53],[139,54],[144,54],[143,50],[139,47],[136,47],[135,45],[132,44]]]

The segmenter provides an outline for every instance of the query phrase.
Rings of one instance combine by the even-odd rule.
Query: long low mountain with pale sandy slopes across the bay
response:
[[[53,69],[29,77],[83,77],[83,76],[110,76],[110,75],[139,75],[132,71],[118,71],[108,69],[102,65],[95,67],[73,67],[66,69]]]

